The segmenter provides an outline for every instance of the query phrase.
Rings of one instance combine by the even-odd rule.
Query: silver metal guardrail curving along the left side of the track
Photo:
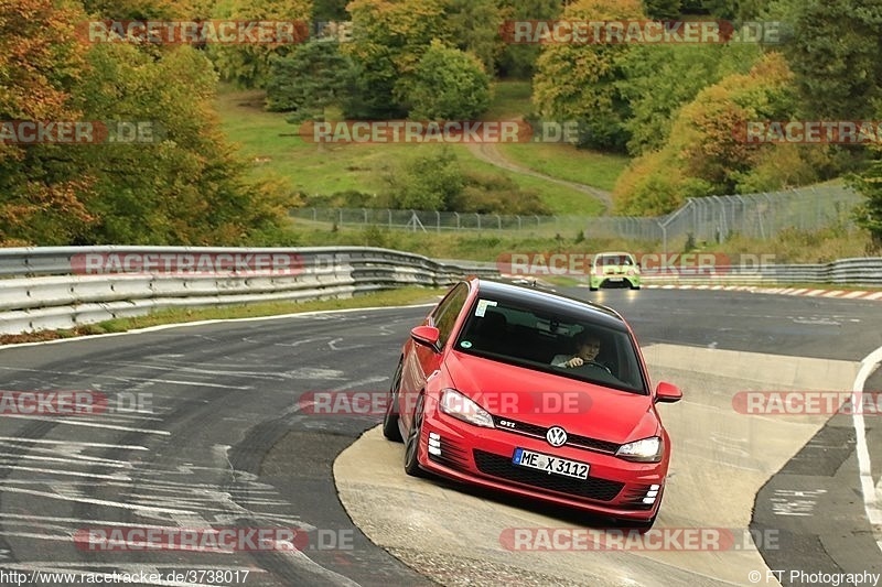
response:
[[[141,262],[153,256],[259,256],[295,259],[286,271],[86,271],[83,256]],[[128,257],[127,257],[128,256]],[[41,247],[0,249],[0,334],[72,328],[170,307],[351,297],[402,285],[444,286],[463,275],[497,276],[418,254],[362,247],[234,249],[187,247]]]

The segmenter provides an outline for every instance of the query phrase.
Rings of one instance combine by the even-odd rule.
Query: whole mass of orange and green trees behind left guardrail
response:
[[[286,200],[245,169],[212,110],[216,76],[189,46],[83,45],[57,0],[0,0],[0,120],[149,123],[148,143],[0,144],[0,242],[238,244]]]

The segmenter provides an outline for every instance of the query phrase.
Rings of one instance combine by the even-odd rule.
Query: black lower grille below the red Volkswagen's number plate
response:
[[[509,457],[494,455],[484,450],[474,450],[477,470],[484,475],[499,477],[508,481],[538,487],[548,491],[558,491],[580,498],[611,501],[622,491],[625,483],[589,477],[585,480],[570,479],[559,475],[549,475],[539,470],[518,467]]]

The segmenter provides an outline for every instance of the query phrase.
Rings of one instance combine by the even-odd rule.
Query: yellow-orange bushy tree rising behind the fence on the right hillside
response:
[[[796,185],[815,177],[797,145],[749,143],[749,121],[788,120],[797,107],[793,73],[768,53],[747,74],[731,74],[701,90],[677,116],[665,145],[632,162],[615,186],[626,214],[666,214],[686,197]],[[770,160],[782,157],[777,163]],[[781,165],[786,161],[785,165]]]

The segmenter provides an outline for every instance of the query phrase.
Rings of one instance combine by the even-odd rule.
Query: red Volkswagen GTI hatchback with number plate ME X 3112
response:
[[[615,311],[474,279],[410,333],[383,432],[405,470],[612,517],[649,529],[670,438],[627,323]]]

